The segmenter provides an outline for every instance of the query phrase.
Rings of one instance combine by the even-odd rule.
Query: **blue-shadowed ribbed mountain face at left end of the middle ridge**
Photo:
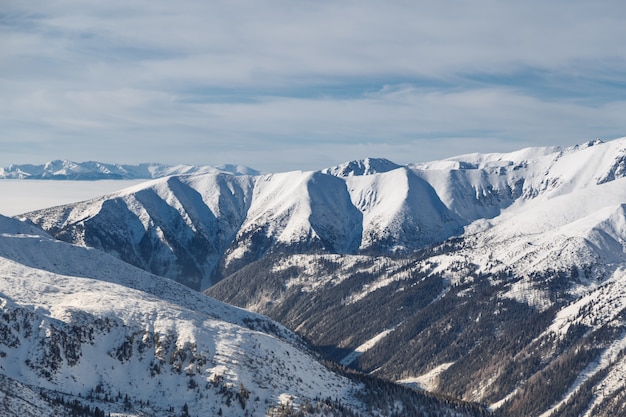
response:
[[[211,174],[146,184],[43,210],[32,221],[62,240],[107,250],[192,288],[206,287],[243,222],[251,179]]]

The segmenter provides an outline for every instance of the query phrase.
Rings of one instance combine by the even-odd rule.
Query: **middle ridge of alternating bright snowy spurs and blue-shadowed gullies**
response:
[[[270,252],[410,251],[465,223],[403,167],[356,177],[172,176],[20,218],[195,289]]]

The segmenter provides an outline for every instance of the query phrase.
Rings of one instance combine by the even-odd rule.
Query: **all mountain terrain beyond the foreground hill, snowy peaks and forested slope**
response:
[[[18,218],[265,314],[371,376],[495,416],[619,416],[625,177],[626,138],[175,175]]]

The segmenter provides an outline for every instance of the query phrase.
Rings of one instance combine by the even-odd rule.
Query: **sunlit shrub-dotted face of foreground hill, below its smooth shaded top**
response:
[[[6,265],[3,272],[12,275],[25,271]],[[37,285],[32,282],[35,278]],[[100,385],[109,393],[123,390],[134,402],[152,401],[150,408],[155,414],[165,414],[168,406],[180,410],[184,404],[195,413],[216,414],[223,407],[218,393],[208,390],[203,398],[190,387],[204,387],[219,378],[224,387],[243,385],[262,398],[251,406],[256,415],[265,414],[266,399],[276,404],[283,394],[302,399],[315,387],[322,393],[327,390],[327,396],[344,397],[356,388],[292,345],[122,286],[50,274],[5,278],[4,283],[48,295],[29,304],[28,300],[34,299],[32,293],[16,293],[3,286],[5,297],[20,303],[18,306],[5,298],[4,313],[22,316],[24,326],[45,329],[51,344],[42,346],[42,340],[28,328],[25,333],[17,333],[19,328],[14,326],[9,328],[9,334],[17,338],[5,339],[6,360],[1,371],[19,375],[28,385],[83,396],[89,394],[87,387]],[[124,307],[120,308],[122,299]],[[77,327],[88,333],[74,335]],[[61,349],[71,346],[71,350],[61,350],[60,356],[53,353],[57,337]],[[266,363],[275,367],[268,369]],[[183,390],[179,388],[181,382],[187,385]],[[219,407],[215,406],[216,399],[220,399]],[[238,415],[241,411],[237,405],[226,413]]]

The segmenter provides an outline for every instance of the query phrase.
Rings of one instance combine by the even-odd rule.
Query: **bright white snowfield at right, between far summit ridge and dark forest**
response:
[[[465,261],[483,271],[509,268],[522,277],[549,269],[569,271],[572,265],[597,265],[600,274],[610,275],[626,261],[626,178],[600,184],[574,182],[579,185],[573,190],[522,197],[501,208],[497,217],[468,225],[466,248],[434,259],[442,265],[440,272]],[[532,285],[520,282],[510,297],[537,307],[547,305]]]

